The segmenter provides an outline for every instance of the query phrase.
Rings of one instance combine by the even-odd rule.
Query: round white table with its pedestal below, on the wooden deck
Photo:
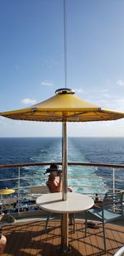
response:
[[[61,247],[60,250],[63,253],[69,252],[68,243],[68,215],[69,213],[75,213],[83,210],[88,210],[94,204],[91,197],[85,196],[79,193],[68,192],[67,200],[62,200],[62,193],[49,193],[43,194],[36,199],[36,204],[42,209],[61,213],[62,225],[61,225]]]

